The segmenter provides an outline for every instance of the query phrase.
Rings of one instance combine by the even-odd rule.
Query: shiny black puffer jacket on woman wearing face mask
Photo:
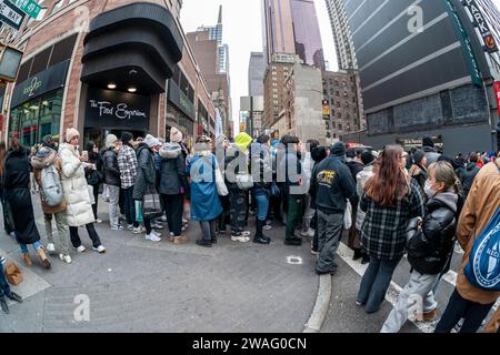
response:
[[[446,271],[453,253],[458,199],[459,196],[451,192],[440,193],[431,199],[427,203],[420,236],[414,224],[409,226],[409,244],[414,244],[414,239],[418,239],[422,256],[416,257],[409,251],[408,261],[419,273],[436,275]]]

